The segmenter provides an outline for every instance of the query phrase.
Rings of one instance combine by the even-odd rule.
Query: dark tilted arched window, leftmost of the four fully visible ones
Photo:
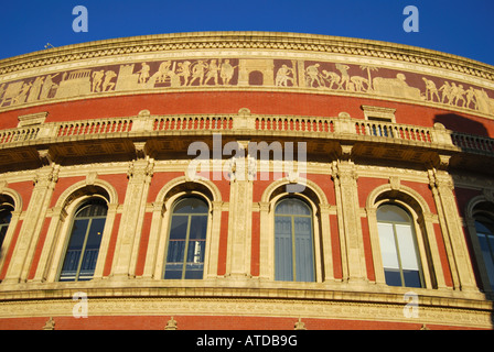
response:
[[[84,202],[75,212],[61,282],[89,280],[96,268],[108,206],[100,198]]]

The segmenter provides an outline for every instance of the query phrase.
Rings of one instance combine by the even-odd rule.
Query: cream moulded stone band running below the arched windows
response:
[[[233,287],[82,288],[89,314],[96,316],[265,316],[352,319],[491,329],[492,302],[420,295],[420,319],[404,316],[402,293],[361,293],[332,289],[250,289]],[[203,283],[202,283],[203,284]],[[76,288],[0,293],[0,317],[71,317]],[[29,298],[25,298],[29,297]],[[172,324],[173,326],[173,324]]]

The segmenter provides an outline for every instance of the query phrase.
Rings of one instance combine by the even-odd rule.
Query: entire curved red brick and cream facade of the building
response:
[[[494,67],[169,34],[0,61],[1,329],[492,329]]]

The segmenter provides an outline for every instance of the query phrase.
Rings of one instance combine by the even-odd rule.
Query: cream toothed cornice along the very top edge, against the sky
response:
[[[402,44],[278,32],[200,32],[106,40],[50,48],[0,61],[0,75],[46,65],[122,54],[196,50],[284,50],[393,59],[494,80],[494,67],[465,57]]]

